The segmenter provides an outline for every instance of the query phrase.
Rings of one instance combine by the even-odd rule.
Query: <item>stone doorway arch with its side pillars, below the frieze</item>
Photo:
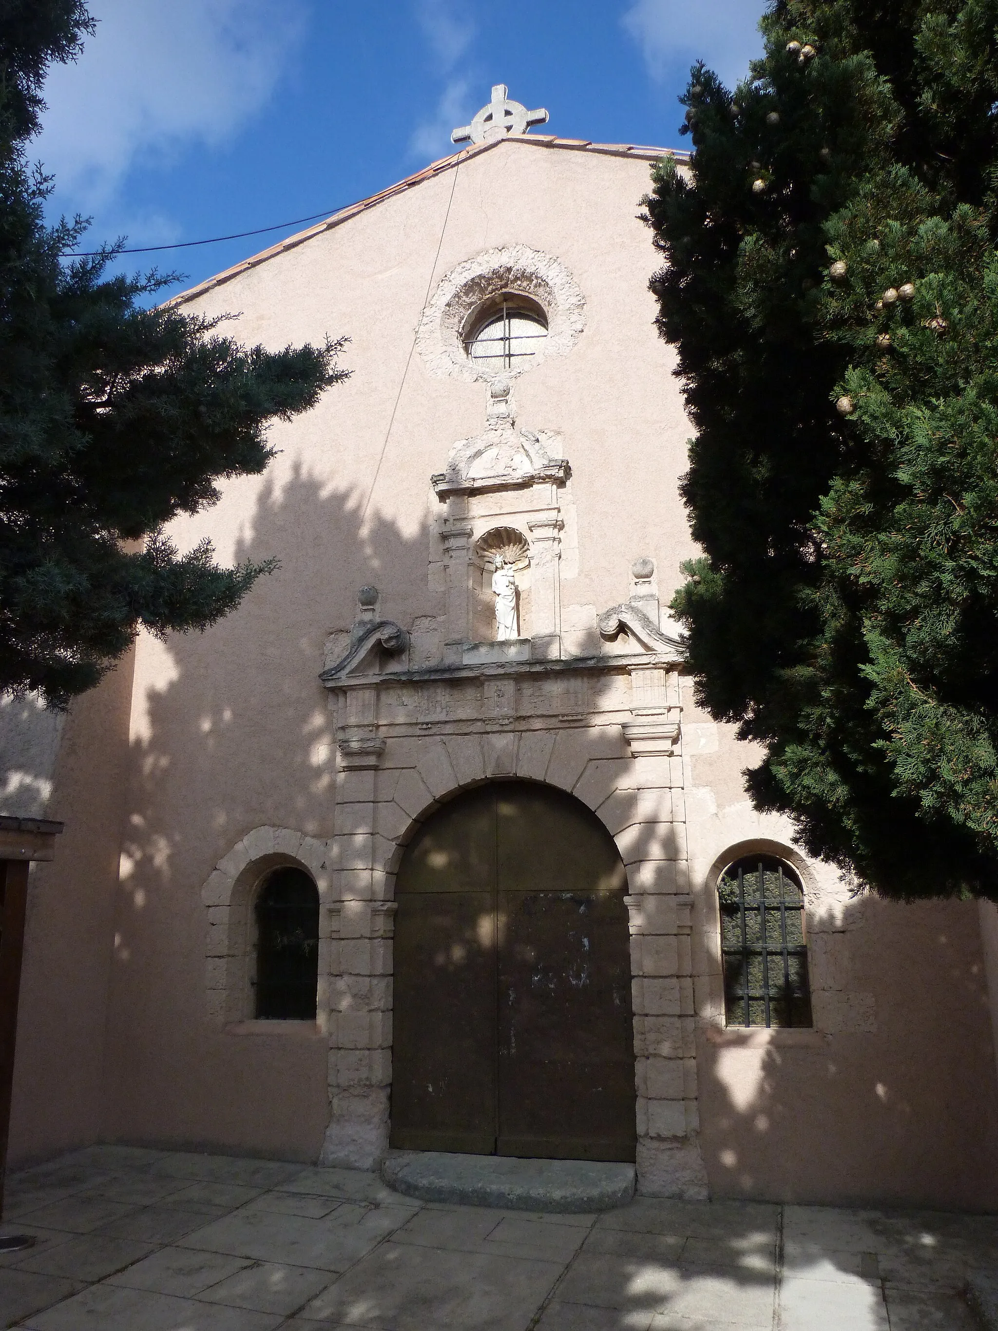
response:
[[[571,792],[616,843],[628,878],[637,1186],[652,1195],[703,1198],[677,733],[632,721],[629,712],[605,724],[559,719],[506,728],[502,719],[512,721],[519,688],[503,675],[484,680],[483,701],[499,720],[482,731],[454,733],[452,721],[430,723],[428,732],[414,724],[387,728],[383,739],[343,731],[330,843],[330,1122],[321,1159],[371,1169],[389,1146],[395,880],[407,845],[462,791],[522,779]],[[574,719],[587,705],[578,677],[559,680],[559,711]]]

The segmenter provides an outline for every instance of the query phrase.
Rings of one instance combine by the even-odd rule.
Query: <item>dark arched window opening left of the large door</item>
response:
[[[277,869],[259,889],[257,1018],[315,1021],[319,893],[302,869]]]

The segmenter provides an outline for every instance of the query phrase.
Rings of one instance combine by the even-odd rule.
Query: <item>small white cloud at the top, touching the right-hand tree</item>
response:
[[[623,21],[653,79],[703,60],[733,87],[762,53],[757,24],[765,8],[765,0],[635,0]]]

